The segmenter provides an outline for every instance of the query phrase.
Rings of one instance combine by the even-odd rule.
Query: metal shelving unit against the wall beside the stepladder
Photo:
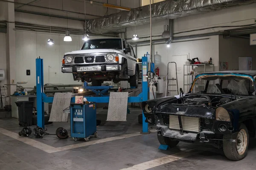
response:
[[[195,76],[201,73],[205,73],[207,70],[207,66],[212,67],[212,71],[214,71],[214,64],[189,64],[189,65],[183,65],[183,89],[185,90],[185,87],[187,89],[187,91],[189,91],[190,86],[192,85],[192,82],[195,79]],[[203,71],[198,71],[198,74],[189,74],[189,72],[195,68],[200,68],[200,67],[204,67]],[[185,71],[186,68],[186,71]],[[195,71],[195,70],[194,70]],[[194,72],[195,73],[195,72]],[[185,82],[185,78],[186,78],[186,82]],[[195,84],[195,88],[193,89],[194,92],[197,92],[196,88],[199,87],[204,87],[205,88],[205,81],[201,80],[201,84]],[[199,90],[200,91],[200,90]]]

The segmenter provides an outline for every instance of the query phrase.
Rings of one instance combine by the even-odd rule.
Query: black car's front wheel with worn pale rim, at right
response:
[[[224,135],[223,139],[223,151],[228,159],[234,161],[244,159],[249,145],[249,134],[244,124],[240,125],[238,133]],[[236,142],[230,142],[225,139],[236,139]]]

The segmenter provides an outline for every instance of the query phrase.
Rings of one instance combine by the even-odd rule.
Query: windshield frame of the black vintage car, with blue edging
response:
[[[236,78],[236,79],[235,79]],[[234,80],[237,80],[237,79],[247,79],[247,80],[250,80],[251,82],[252,82],[252,88],[254,89],[254,91],[251,91],[251,92],[254,92],[255,94],[256,94],[256,86],[255,86],[255,79],[253,78],[253,76],[251,76],[251,75],[248,75],[248,74],[235,74],[235,73],[229,73],[229,74],[223,74],[223,73],[214,73],[214,74],[198,74],[198,75],[196,75],[195,76],[195,79],[194,79],[194,81],[193,81],[193,83],[192,83],[192,86],[190,87],[190,89],[189,89],[189,92],[188,93],[190,93],[190,94],[195,94],[195,93],[192,93],[192,90],[193,90],[193,88],[195,87],[195,85],[196,85],[196,81],[198,80],[198,79],[202,79],[202,80],[206,80],[205,82],[206,82],[206,84],[205,84],[205,88],[204,88],[204,91],[200,91],[200,92],[197,92],[196,94],[198,94],[198,93],[204,93],[204,94],[211,94],[211,93],[207,93],[207,88],[209,88],[208,86],[209,86],[209,81],[211,81],[211,80],[216,80],[216,79],[219,79],[219,80],[221,80],[220,82],[221,82],[221,88],[222,88],[222,82],[223,82],[223,80],[232,80],[232,79],[234,79]],[[224,89],[224,88],[222,88],[222,89]],[[255,95],[254,94],[254,95]],[[229,94],[227,94],[227,95],[229,95]],[[252,94],[248,94],[248,95],[244,95],[244,94],[236,94],[236,95],[239,95],[239,96],[251,96]]]

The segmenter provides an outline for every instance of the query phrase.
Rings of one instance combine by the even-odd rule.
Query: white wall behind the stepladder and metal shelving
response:
[[[214,70],[218,71],[219,37],[216,35],[204,38],[207,38],[207,40],[197,40],[197,38],[194,39],[194,41],[175,42],[172,43],[169,48],[167,48],[166,44],[154,45],[154,55],[157,53],[161,56],[160,64],[155,64],[155,68],[160,68],[161,79],[167,75],[167,63],[169,62],[169,58],[174,54],[189,54],[190,59],[198,57],[201,62],[209,61],[211,57],[212,63],[215,66]],[[138,58],[141,58],[147,51],[150,51],[150,48],[149,46],[142,46],[137,47],[137,50]],[[177,67],[183,69],[183,64],[177,65]],[[208,68],[207,71],[212,71],[212,68]],[[183,74],[178,74],[178,80],[179,79],[183,81]],[[163,94],[157,95],[158,97],[164,96],[165,88],[166,81],[163,82]],[[183,88],[183,86],[179,88]],[[186,91],[186,89],[183,90]]]

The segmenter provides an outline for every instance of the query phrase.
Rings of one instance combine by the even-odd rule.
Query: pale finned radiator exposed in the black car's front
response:
[[[183,131],[200,132],[200,121],[198,117],[180,116]],[[180,130],[178,116],[169,115],[169,128]]]

